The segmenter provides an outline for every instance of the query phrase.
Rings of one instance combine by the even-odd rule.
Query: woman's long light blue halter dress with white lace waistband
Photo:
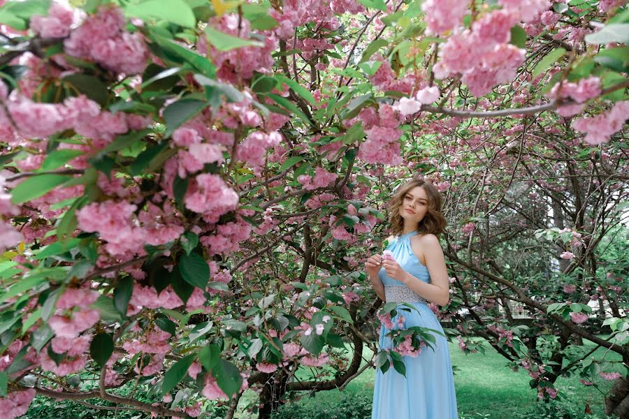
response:
[[[421,264],[410,247],[410,237],[416,234],[417,231],[400,235],[386,249],[391,251],[403,270],[430,284],[428,269]],[[398,310],[398,315],[393,317],[394,328],[398,328],[396,320],[401,315],[405,317],[403,328],[421,326],[443,332],[437,316],[428,307],[426,300],[410,291],[402,282],[389,277],[384,267],[378,275],[389,300],[399,300],[400,294],[408,293],[412,296],[408,300],[419,300],[410,302],[419,313],[414,310]],[[379,348],[391,348],[391,339],[385,337],[389,332],[384,325],[380,328]],[[384,374],[377,368],[372,419],[458,419],[448,341],[443,336],[434,336],[437,339],[437,343],[433,344],[434,352],[428,346],[423,346],[417,358],[402,358],[406,367],[406,378],[393,367]]]

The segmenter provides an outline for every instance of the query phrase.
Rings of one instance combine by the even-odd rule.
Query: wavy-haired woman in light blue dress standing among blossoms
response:
[[[392,328],[382,326],[381,350],[393,346],[391,337],[386,336],[391,330],[421,326],[443,333],[426,304],[444,306],[449,301],[448,274],[437,238],[446,224],[441,203],[439,191],[423,179],[400,186],[389,202],[393,236],[385,250],[393,258],[373,255],[367,260],[366,271],[380,299],[408,302],[417,310],[398,310],[391,322],[386,322]],[[434,351],[422,346],[419,355],[402,357],[406,376],[393,368],[384,374],[377,369],[372,419],[458,419],[447,339],[433,336]]]

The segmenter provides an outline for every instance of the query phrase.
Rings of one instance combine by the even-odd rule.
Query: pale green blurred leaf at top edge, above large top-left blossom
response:
[[[182,27],[194,29],[196,18],[190,6],[182,0],[148,0],[139,4],[128,4],[124,8],[127,17],[139,17],[142,20],[155,17],[178,24]]]

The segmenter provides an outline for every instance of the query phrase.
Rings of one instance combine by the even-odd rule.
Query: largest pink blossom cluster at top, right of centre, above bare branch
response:
[[[439,50],[441,60],[433,71],[438,79],[461,74],[475,96],[489,93],[496,84],[513,80],[526,50],[509,44],[518,15],[494,10],[472,24],[472,29],[454,34]]]

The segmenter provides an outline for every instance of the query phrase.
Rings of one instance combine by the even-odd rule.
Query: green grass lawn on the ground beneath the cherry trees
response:
[[[584,340],[584,344],[593,346],[590,341],[586,340]],[[459,416],[498,419],[509,418],[514,411],[526,410],[537,399],[537,391],[528,386],[530,377],[523,369],[513,372],[505,367],[507,360],[489,344],[485,346],[484,355],[482,353],[465,355],[458,348],[458,344],[449,343],[450,356],[455,367],[454,385]],[[604,356],[605,360],[621,359],[620,355],[616,353],[606,352],[607,349],[598,348],[593,356],[595,359]],[[366,348],[365,356],[369,357],[370,355],[370,351]],[[299,376],[307,379],[308,372],[305,370]],[[344,391],[372,397],[374,376],[375,369],[366,369],[363,374],[354,378]],[[612,387],[611,381],[600,377],[595,382],[600,384],[604,392]],[[585,409],[587,403],[593,413],[603,416],[604,395],[591,386],[586,387],[579,383],[577,376],[559,378],[556,382],[556,388],[574,399],[578,406]],[[338,404],[341,395],[342,393],[338,390],[322,391],[316,393],[314,397],[304,397],[298,403],[333,406]],[[254,392],[247,391],[240,399],[240,406],[244,407],[254,400]],[[239,413],[236,418],[249,419],[250,416],[247,413]]]

